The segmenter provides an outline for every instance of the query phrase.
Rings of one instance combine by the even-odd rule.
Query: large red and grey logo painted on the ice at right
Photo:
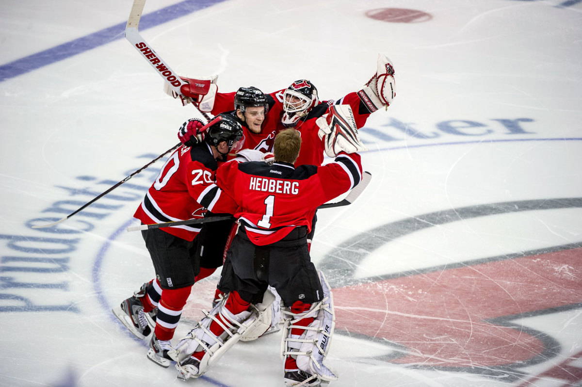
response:
[[[582,242],[367,279],[354,274],[367,255],[411,232],[478,216],[561,208],[582,208],[582,198],[456,208],[354,236],[320,265],[333,287],[336,332],[393,343],[383,357],[391,363],[523,380],[521,367],[559,356],[562,346],[516,320],[582,309]],[[582,369],[572,370],[579,381]],[[567,367],[548,372],[573,377]]]

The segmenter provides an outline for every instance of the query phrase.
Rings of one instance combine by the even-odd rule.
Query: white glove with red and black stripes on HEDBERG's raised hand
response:
[[[356,120],[349,105],[331,105],[329,112],[318,118],[317,133],[325,143],[325,154],[336,157],[339,152],[354,153],[367,151],[360,140]]]

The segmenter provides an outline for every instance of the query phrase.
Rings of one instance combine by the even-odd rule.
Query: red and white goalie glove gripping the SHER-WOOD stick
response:
[[[215,75],[205,79],[180,77],[180,79],[186,82],[180,87],[182,94],[173,91],[168,82],[164,82],[164,93],[176,99],[180,98],[183,106],[191,102],[201,112],[211,112],[212,108],[214,108],[214,98],[218,91],[216,84],[218,76]]]

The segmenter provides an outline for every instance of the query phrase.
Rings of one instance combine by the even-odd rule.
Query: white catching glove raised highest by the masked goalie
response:
[[[370,113],[377,111],[382,106],[386,106],[386,108],[390,106],[396,97],[396,81],[394,80],[394,67],[386,55],[378,54],[376,73],[364,86],[358,95]]]

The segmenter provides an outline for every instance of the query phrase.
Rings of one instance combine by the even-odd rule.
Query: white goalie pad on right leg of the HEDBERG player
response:
[[[297,367],[311,375],[317,375],[322,381],[331,382],[338,379],[334,371],[324,364],[329,352],[329,343],[335,329],[335,313],[333,311],[333,296],[325,276],[318,271],[323,289],[324,298],[313,304],[307,312],[294,314],[283,309],[283,313],[291,315],[294,319],[285,321],[281,341],[283,358],[287,355],[297,357]],[[299,317],[297,317],[299,316]],[[314,320],[308,326],[296,325],[304,318],[313,317]],[[303,333],[292,335],[292,329],[303,329]]]

